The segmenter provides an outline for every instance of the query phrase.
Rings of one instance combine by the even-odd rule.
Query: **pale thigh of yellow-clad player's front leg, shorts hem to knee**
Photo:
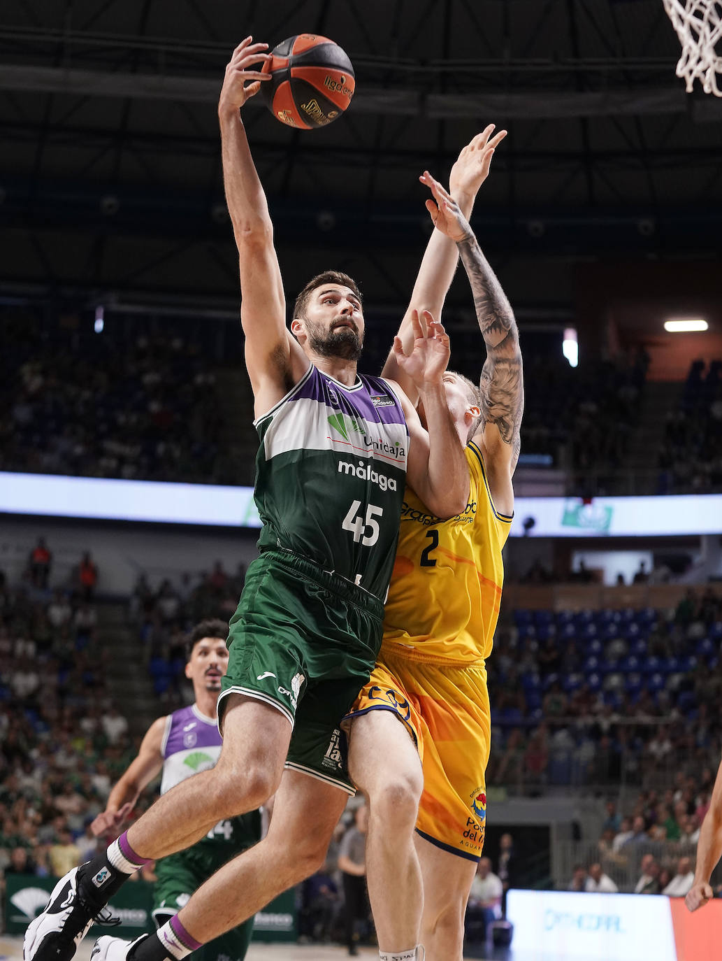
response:
[[[349,730],[349,775],[372,802],[379,792],[400,785],[421,796],[421,759],[409,729],[394,710],[383,708],[354,717]]]

